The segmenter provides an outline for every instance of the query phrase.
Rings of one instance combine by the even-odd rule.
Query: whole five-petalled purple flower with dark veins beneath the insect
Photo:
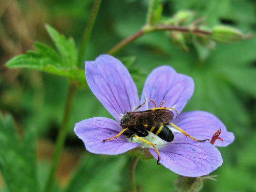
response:
[[[144,102],[145,96],[146,100],[152,99],[158,106],[164,100],[164,106],[175,108],[179,115],[172,123],[197,139],[211,139],[221,129],[224,141],[216,140],[215,146],[227,146],[234,140],[233,133],[227,132],[225,125],[214,115],[203,111],[181,113],[193,95],[194,81],[186,75],[178,74],[169,66],[152,71],[146,79],[141,99],[130,73],[118,59],[110,55],[100,55],[95,61],[86,61],[86,78],[94,95],[115,119],[94,117],[76,123],[75,133],[91,153],[118,155],[144,146],[157,159],[154,148],[136,138],[120,135],[117,139],[102,143],[104,139],[114,137],[122,131],[121,114],[134,111]],[[148,108],[154,108],[154,103],[148,102],[137,111]],[[177,132],[174,135],[175,140],[170,143],[153,133],[143,137],[156,144],[163,166],[187,177],[207,175],[221,166],[219,150],[208,141],[197,142]]]

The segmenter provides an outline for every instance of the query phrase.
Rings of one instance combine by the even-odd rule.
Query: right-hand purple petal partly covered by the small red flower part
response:
[[[220,137],[224,141],[217,139],[215,146],[227,146],[234,140],[234,134],[228,132],[225,125],[215,115],[204,111],[182,113],[174,119],[173,123],[199,140],[211,139],[219,129],[222,129]],[[183,137],[183,134],[178,133],[175,137]]]

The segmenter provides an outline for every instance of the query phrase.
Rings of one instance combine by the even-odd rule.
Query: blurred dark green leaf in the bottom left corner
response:
[[[40,191],[35,157],[35,133],[26,130],[24,140],[11,116],[0,113],[0,170],[9,191]]]

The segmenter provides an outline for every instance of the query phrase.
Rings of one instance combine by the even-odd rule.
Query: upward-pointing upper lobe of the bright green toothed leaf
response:
[[[63,62],[70,67],[76,66],[77,50],[74,40],[72,38],[67,39],[64,35],[59,34],[49,25],[46,25],[46,29],[54,41],[55,46],[63,59]]]

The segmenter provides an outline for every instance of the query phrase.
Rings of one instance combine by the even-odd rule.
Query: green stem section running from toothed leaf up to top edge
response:
[[[92,13],[91,13],[91,16],[89,18],[89,23],[88,23],[86,29],[84,30],[81,47],[80,47],[80,50],[79,50],[79,53],[78,53],[78,60],[77,60],[78,65],[80,65],[80,63],[83,60],[84,53],[86,51],[87,42],[88,42],[89,37],[91,35],[93,25],[94,25],[95,19],[96,19],[97,14],[98,14],[100,3],[101,3],[101,0],[95,0],[94,5],[93,5],[93,9],[92,9]]]

